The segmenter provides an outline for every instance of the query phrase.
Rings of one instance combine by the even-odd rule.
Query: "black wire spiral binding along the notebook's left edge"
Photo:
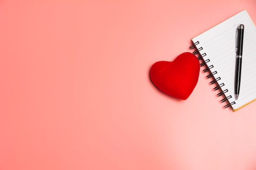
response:
[[[198,60],[202,60],[202,62],[200,63],[200,66],[207,66],[206,63],[207,63],[207,62],[210,62],[210,60],[204,58],[205,56],[207,56],[206,53],[203,53],[203,54],[200,53],[200,51],[201,51],[203,48],[202,48],[202,47],[197,48],[196,45],[198,45],[198,44],[200,44],[199,41],[193,43],[191,46],[189,46],[189,49],[191,49],[191,50],[192,50],[192,49],[195,49],[195,50],[193,51],[193,54],[194,54],[194,55],[197,55],[197,54],[199,55],[199,56],[198,56]],[[228,107],[230,107],[231,105],[236,104],[236,102],[231,102],[231,103],[229,102],[228,99],[231,99],[232,96],[229,95],[229,96],[226,97],[225,93],[227,93],[228,90],[227,90],[227,89],[222,90],[223,88],[221,88],[221,87],[225,86],[224,83],[218,84],[218,80],[220,80],[221,78],[220,78],[220,77],[215,78],[215,77],[213,76],[213,75],[215,75],[215,74],[218,73],[217,71],[211,71],[211,70],[210,70],[210,69],[213,68],[213,67],[214,67],[213,65],[207,66],[207,68],[205,68],[205,69],[203,70],[203,72],[204,72],[204,73],[209,72],[209,74],[206,76],[208,79],[211,78],[211,77],[213,77],[213,80],[210,82],[210,84],[216,84],[216,86],[213,88],[213,90],[214,90],[214,91],[220,90],[220,93],[218,93],[217,96],[218,96],[218,97],[220,97],[220,96],[223,97],[223,99],[220,100],[220,102],[222,102],[222,103],[223,103],[223,102],[227,102],[227,105],[225,105],[224,108],[228,108]]]

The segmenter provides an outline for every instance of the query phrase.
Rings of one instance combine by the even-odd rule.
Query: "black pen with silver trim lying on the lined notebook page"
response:
[[[236,75],[235,75],[235,99],[238,99],[241,82],[242,55],[243,55],[243,39],[244,39],[243,24],[240,24],[236,29]]]

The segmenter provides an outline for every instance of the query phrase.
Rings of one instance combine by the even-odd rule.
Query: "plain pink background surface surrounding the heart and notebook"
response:
[[[224,109],[149,69],[255,0],[0,1],[0,170],[255,170],[256,102]]]

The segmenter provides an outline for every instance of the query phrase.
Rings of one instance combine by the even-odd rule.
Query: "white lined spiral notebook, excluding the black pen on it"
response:
[[[235,100],[235,64],[236,64],[236,28],[244,24],[243,61],[239,98]],[[221,102],[227,102],[236,111],[256,100],[256,26],[248,12],[243,10],[231,18],[191,39],[190,49],[199,55],[207,78],[213,78],[210,84],[216,84],[214,90],[220,90]]]

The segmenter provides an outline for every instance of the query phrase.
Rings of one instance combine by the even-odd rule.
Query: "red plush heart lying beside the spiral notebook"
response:
[[[151,81],[160,91],[178,99],[187,99],[199,77],[200,64],[192,53],[182,53],[173,62],[159,61],[150,68]]]

